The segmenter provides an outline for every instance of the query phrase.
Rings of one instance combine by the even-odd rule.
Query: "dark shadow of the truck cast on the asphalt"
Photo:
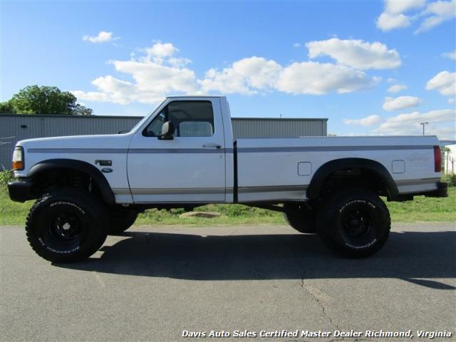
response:
[[[100,258],[59,267],[191,280],[395,278],[432,289],[456,277],[456,232],[391,232],[367,259],[329,252],[316,235],[125,232]]]

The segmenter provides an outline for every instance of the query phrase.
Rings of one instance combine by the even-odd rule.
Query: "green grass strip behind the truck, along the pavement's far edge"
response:
[[[410,202],[387,202],[393,222],[456,222],[456,187],[448,189],[448,197],[432,198],[416,196]],[[0,224],[24,225],[28,209],[33,201],[12,202],[4,188],[0,189]],[[280,212],[246,207],[241,204],[209,204],[195,210],[220,212],[214,219],[202,217],[180,218],[182,209],[151,209],[140,214],[136,224],[286,224]]]

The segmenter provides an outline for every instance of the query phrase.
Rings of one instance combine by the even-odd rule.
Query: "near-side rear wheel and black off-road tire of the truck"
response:
[[[346,257],[363,258],[378,252],[390,234],[390,213],[375,193],[338,190],[326,198],[316,215],[324,244]]]

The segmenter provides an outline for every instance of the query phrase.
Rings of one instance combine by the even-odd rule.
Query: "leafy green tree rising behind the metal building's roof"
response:
[[[1,113],[91,115],[92,110],[80,105],[75,95],[57,87],[27,86],[13,95],[11,100],[0,103]]]

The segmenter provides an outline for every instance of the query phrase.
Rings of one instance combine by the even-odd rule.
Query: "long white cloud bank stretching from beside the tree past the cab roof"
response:
[[[274,60],[252,56],[235,61],[222,70],[210,68],[202,79],[187,68],[191,61],[177,56],[172,43],[155,42],[140,49],[143,56],[130,55],[126,61],[109,61],[128,81],[108,75],[95,78],[95,91],[74,90],[81,100],[126,104],[157,103],[169,93],[240,93],[252,95],[281,91],[321,95],[351,93],[376,86],[380,78],[334,63],[307,61],[281,66]],[[130,79],[131,78],[131,79]],[[132,81],[133,79],[133,81]]]

